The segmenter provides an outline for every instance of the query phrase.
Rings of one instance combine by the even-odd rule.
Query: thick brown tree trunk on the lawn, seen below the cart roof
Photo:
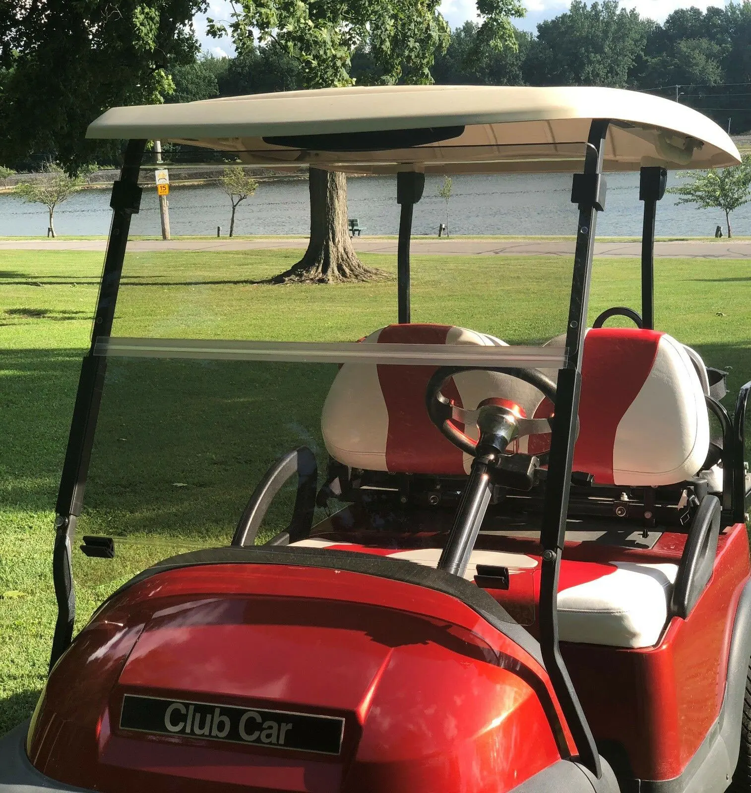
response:
[[[367,267],[357,258],[349,239],[347,177],[320,168],[310,168],[310,243],[305,255],[276,283],[314,282],[337,284],[347,281],[379,281],[391,278],[383,270]]]

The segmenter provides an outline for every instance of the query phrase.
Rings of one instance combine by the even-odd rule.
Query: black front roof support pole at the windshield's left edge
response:
[[[73,636],[75,621],[75,590],[71,565],[71,542],[75,535],[75,523],[81,514],[83,489],[94,444],[94,430],[102,400],[107,359],[94,355],[94,345],[100,336],[110,335],[114,320],[117,289],[120,286],[125,246],[128,243],[130,217],[141,205],[141,188],[138,174],[145,140],[130,140],[125,148],[125,159],[120,179],[112,187],[110,206],[112,225],[110,239],[102,271],[102,282],[94,313],[94,330],[91,333],[91,348],[81,362],[79,388],[75,395],[71,431],[67,439],[63,473],[57,494],[55,519],[55,547],[52,552],[52,580],[57,600],[57,622],[52,638],[50,669],[65,652]]]

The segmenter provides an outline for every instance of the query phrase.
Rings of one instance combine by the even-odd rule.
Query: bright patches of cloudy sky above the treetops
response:
[[[526,17],[515,19],[514,25],[523,30],[535,33],[537,23],[550,17],[557,17],[559,13],[568,9],[569,0],[523,0],[526,6]],[[707,10],[709,6],[722,5],[723,0],[694,0],[694,2],[684,2],[684,0],[622,0],[621,6],[624,8],[635,8],[642,16],[650,17],[658,22],[664,21],[678,8],[689,8],[697,6],[702,10]],[[229,0],[211,0],[209,3],[209,13],[200,14],[194,19],[195,32],[201,41],[203,48],[207,52],[212,52],[216,56],[233,55],[233,47],[228,39],[212,39],[206,36],[206,16],[216,20],[229,20],[231,6]],[[468,19],[476,19],[475,0],[442,0],[441,13],[452,28],[463,25]]]

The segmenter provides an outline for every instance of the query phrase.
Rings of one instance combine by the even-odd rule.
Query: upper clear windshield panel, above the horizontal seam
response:
[[[345,232],[335,250],[314,251],[308,263],[314,259],[320,264],[319,253],[323,259],[333,257],[343,274],[354,270],[356,279],[322,285],[306,282],[321,276],[314,265],[297,267],[310,232],[304,171],[280,177],[268,169],[243,171],[238,163],[219,163],[214,170],[187,174],[195,178],[183,178],[175,167],[169,171],[172,239],[162,240],[153,168],[142,170],[144,197],[131,222],[113,336],[355,342],[399,321],[395,176],[349,178],[357,209],[347,215],[360,234],[350,239]],[[230,170],[256,180],[255,192],[239,203],[237,193],[232,197],[222,187]],[[520,179],[514,174],[454,176],[446,201],[438,195],[444,177],[426,178],[422,200],[414,208],[412,323],[467,328],[522,345],[545,343],[564,332],[573,243],[570,255],[535,255],[523,246],[518,255],[496,255],[488,239],[482,244],[470,239],[478,228],[514,235],[516,225],[503,208],[528,189],[526,182],[517,185]],[[495,193],[506,198],[497,202]],[[237,207],[230,239],[233,201]],[[480,203],[470,212],[468,202],[473,201]],[[558,205],[573,233],[577,214],[568,190],[545,201]],[[455,223],[453,208],[460,203],[464,208]],[[439,237],[447,210],[451,236],[441,231]],[[546,231],[541,217],[539,233]]]

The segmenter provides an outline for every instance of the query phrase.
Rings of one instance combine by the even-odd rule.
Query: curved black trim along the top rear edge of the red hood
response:
[[[433,589],[460,600],[476,611],[487,623],[501,631],[510,640],[542,664],[540,645],[532,634],[516,623],[496,600],[470,581],[444,573],[414,561],[389,559],[375,554],[361,554],[349,550],[329,550],[328,548],[307,548],[299,546],[253,546],[248,548],[209,548],[195,550],[187,554],[170,557],[138,573],[111,598],[117,597],[125,589],[152,576],[195,565],[297,565],[301,567],[321,567],[324,569],[347,570],[349,573],[363,573],[405,584]],[[110,600],[108,599],[108,600]]]

